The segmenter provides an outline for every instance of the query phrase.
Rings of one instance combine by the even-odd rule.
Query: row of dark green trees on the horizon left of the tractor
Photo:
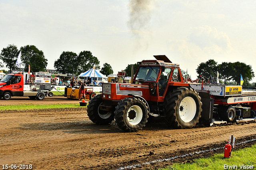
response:
[[[10,44],[0,53],[0,59],[10,73],[12,70],[18,69],[16,61],[20,51],[22,51],[21,64],[24,65],[24,71],[28,72],[28,65],[30,65],[30,72],[47,71],[48,60],[42,50],[34,45],[26,45],[18,49],[16,45]],[[0,67],[4,67],[3,63],[0,61]],[[62,74],[80,75],[80,73],[91,69],[94,64],[95,69],[100,69],[100,61],[90,51],[81,51],[78,55],[71,51],[63,51],[60,57],[54,61],[54,68]],[[100,72],[104,75],[113,74],[112,67],[108,63],[103,64]]]

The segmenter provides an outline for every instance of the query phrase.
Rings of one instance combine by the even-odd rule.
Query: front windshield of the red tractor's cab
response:
[[[140,67],[135,80],[143,79],[144,81],[156,81],[159,67]]]

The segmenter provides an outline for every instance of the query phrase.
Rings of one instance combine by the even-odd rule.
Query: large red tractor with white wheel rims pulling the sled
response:
[[[165,55],[154,57],[156,60],[138,62],[132,84],[102,84],[102,94],[88,103],[92,122],[103,125],[115,119],[124,131],[142,129],[148,117],[164,117],[171,128],[192,128],[198,123],[202,111],[199,93],[185,83],[179,64]],[[209,113],[206,109],[207,121],[211,120],[207,119]]]

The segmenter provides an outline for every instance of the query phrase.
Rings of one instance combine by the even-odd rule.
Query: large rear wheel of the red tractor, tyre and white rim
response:
[[[164,112],[166,124],[171,128],[192,128],[201,117],[201,97],[196,90],[181,87],[166,94]]]

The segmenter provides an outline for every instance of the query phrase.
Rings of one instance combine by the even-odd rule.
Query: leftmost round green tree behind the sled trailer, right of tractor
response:
[[[212,80],[213,77],[216,77],[217,71],[218,71],[218,65],[217,62],[213,59],[209,59],[208,61],[204,63],[200,63],[196,69],[196,73],[198,73],[198,78],[200,78],[200,75],[204,75],[208,80]],[[206,81],[208,81],[206,80]]]

